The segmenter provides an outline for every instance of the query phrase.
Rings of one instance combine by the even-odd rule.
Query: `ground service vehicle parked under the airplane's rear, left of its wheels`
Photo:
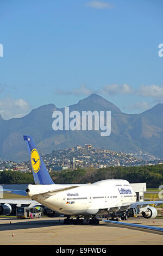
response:
[[[40,218],[43,216],[43,208],[37,207],[17,207],[17,218]]]

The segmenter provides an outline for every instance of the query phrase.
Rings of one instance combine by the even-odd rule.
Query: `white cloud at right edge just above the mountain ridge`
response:
[[[156,86],[152,84],[151,86],[141,86],[136,92],[139,96],[162,98],[163,97],[163,86]]]

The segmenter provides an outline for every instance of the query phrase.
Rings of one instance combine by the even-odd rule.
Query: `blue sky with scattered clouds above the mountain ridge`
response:
[[[126,113],[163,99],[162,0],[2,0],[0,113],[98,93]]]

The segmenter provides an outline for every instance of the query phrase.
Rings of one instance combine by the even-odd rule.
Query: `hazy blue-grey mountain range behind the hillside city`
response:
[[[140,114],[126,114],[113,103],[97,94],[91,94],[71,111],[111,111],[111,134],[102,137],[100,131],[54,131],[54,111],[64,113],[64,108],[48,104],[33,109],[22,118],[4,120],[0,115],[0,158],[5,161],[29,160],[23,135],[31,135],[41,154],[54,149],[65,149],[74,145],[91,143],[94,148],[114,151],[142,150],[162,158],[163,153],[163,104],[159,103]]]

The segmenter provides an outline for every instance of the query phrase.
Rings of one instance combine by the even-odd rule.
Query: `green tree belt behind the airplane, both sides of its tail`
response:
[[[163,164],[140,167],[108,167],[95,169],[52,171],[52,179],[57,184],[96,182],[104,179],[125,179],[130,183],[146,182],[149,188],[163,184]],[[0,173],[0,184],[34,184],[32,173],[4,171]]]

